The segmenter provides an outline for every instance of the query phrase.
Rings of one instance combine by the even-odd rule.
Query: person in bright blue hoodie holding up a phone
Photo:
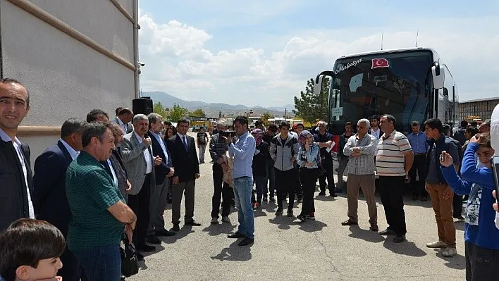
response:
[[[493,220],[495,211],[490,206],[495,202],[495,189],[491,156],[490,133],[479,134],[469,140],[462,161],[461,177],[453,167],[450,154],[443,151],[440,157],[442,174],[449,186],[461,195],[469,195],[464,220],[464,243],[466,256],[466,280],[498,280],[499,229]],[[483,168],[476,167],[475,153]],[[464,180],[463,180],[464,179]]]

